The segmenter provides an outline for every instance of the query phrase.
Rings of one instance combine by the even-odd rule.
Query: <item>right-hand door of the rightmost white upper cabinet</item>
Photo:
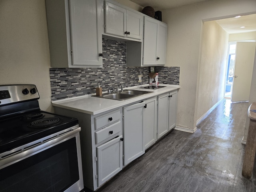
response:
[[[157,44],[156,44],[156,64],[164,65],[166,61],[166,40],[167,40],[167,25],[159,22],[157,29]]]

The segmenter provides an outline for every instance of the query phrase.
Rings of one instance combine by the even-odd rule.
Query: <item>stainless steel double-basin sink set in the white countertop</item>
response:
[[[126,100],[130,99],[132,97],[140,96],[143,94],[148,94],[151,93],[150,91],[140,91],[140,90],[123,90],[123,91],[118,91],[118,92],[113,92],[113,93],[104,93],[102,96],[96,96],[92,95],[93,97],[100,97],[100,98],[106,98],[106,99],[114,99],[114,100]]]

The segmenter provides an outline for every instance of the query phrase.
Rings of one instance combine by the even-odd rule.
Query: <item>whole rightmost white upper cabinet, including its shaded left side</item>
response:
[[[166,63],[167,25],[144,16],[143,44],[126,42],[126,65],[164,66]]]

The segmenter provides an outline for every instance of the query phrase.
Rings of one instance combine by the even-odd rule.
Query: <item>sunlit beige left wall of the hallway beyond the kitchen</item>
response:
[[[204,22],[196,120],[223,99],[228,36],[217,22]]]

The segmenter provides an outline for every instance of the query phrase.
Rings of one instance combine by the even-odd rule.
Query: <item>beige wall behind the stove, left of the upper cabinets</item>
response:
[[[42,110],[53,111],[44,0],[0,0],[0,84],[35,84]]]

